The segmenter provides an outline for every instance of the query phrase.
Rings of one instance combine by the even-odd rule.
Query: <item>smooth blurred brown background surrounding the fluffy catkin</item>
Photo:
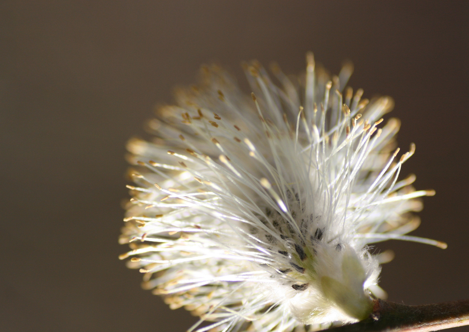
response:
[[[195,320],[140,289],[117,256],[128,197],[125,143],[155,103],[217,61],[287,73],[315,53],[350,85],[388,94],[401,174],[424,199],[413,234],[390,241],[390,300],[469,298],[468,1],[2,1],[0,3],[1,331],[185,331]],[[249,91],[247,91],[249,92]],[[455,330],[454,330],[455,331]],[[461,327],[458,331],[469,331]]]

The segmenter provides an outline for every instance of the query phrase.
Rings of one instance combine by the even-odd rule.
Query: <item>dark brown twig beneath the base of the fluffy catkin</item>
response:
[[[422,306],[374,300],[369,318],[327,332],[429,332],[462,325],[469,325],[468,300]]]

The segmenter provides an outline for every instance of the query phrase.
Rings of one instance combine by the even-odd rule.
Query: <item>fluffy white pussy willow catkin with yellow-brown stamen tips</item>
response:
[[[371,243],[413,240],[414,175],[398,181],[394,136],[382,97],[345,88],[346,64],[329,78],[307,55],[306,73],[272,78],[245,64],[251,95],[217,66],[177,92],[132,139],[133,198],[121,255],[144,273],[143,287],[171,309],[200,317],[189,331],[308,331],[354,322],[372,311],[380,257]],[[201,324],[202,322],[211,324]],[[207,326],[208,325],[208,326]]]

